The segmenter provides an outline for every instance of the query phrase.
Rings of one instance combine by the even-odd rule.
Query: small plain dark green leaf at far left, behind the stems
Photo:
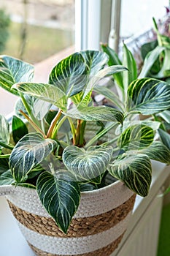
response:
[[[18,141],[23,138],[28,133],[28,129],[26,127],[26,124],[18,118],[17,116],[13,116],[12,118],[12,136],[15,141],[15,143],[18,143]]]

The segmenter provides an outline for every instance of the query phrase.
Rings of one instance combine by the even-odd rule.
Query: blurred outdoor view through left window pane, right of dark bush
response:
[[[34,64],[74,45],[74,0],[1,0],[0,10],[11,20],[0,54]]]

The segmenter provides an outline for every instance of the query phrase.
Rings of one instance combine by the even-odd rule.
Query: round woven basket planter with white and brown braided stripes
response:
[[[42,207],[35,189],[0,187],[23,236],[39,256],[107,256],[120,243],[136,195],[117,181],[82,192],[80,206],[64,234]]]

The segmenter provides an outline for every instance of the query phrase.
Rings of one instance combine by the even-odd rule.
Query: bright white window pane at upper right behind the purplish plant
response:
[[[152,17],[156,20],[166,14],[168,0],[122,0],[120,37],[126,39],[152,28]]]

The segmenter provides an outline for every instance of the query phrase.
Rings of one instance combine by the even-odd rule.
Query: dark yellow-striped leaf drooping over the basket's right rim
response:
[[[145,197],[150,189],[152,167],[144,154],[123,154],[109,165],[109,173],[136,194]]]

